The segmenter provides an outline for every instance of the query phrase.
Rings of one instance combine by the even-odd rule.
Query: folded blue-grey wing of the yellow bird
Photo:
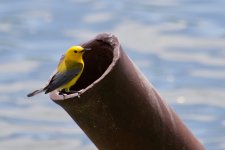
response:
[[[66,70],[65,72],[57,72],[52,76],[49,84],[45,87],[45,94],[54,91],[55,89],[65,85],[71,81],[76,75],[78,75],[82,70],[82,64],[76,67]]]

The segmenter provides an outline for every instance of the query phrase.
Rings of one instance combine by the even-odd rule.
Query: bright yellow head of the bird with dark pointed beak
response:
[[[66,52],[66,58],[74,61],[81,61],[82,56],[86,50],[90,50],[90,48],[71,46]]]

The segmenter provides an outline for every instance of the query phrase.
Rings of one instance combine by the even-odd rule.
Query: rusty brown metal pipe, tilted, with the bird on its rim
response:
[[[118,39],[100,34],[82,44],[84,72],[73,87],[81,95],[50,98],[101,150],[203,150],[176,113],[122,50]]]

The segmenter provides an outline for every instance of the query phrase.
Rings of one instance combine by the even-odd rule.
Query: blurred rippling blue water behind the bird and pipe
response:
[[[209,150],[225,149],[224,0],[0,0],[0,149],[95,150],[42,86],[68,47],[102,32]]]

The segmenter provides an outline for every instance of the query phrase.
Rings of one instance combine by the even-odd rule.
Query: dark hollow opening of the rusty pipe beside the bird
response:
[[[91,48],[83,55],[84,70],[71,90],[80,91],[99,79],[113,61],[113,47],[103,40],[93,40],[82,45]]]

